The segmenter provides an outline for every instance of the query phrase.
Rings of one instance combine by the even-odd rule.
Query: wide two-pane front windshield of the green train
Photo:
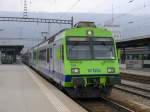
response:
[[[69,59],[115,59],[112,38],[75,38],[67,40]]]

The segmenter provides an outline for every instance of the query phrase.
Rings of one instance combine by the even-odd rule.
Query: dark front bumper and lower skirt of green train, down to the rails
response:
[[[121,83],[118,75],[114,76],[72,76],[71,85],[65,87],[67,93],[74,98],[96,98],[110,95],[112,86]]]

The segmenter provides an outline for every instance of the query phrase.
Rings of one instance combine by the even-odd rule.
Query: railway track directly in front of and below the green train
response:
[[[75,100],[88,112],[135,112],[107,98]]]

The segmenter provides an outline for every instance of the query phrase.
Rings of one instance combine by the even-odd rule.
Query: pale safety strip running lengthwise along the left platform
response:
[[[35,76],[26,66],[24,66],[24,69],[29,73],[31,78],[40,87],[42,92],[48,98],[50,103],[54,105],[58,112],[70,112],[70,110],[43,84],[37,76]]]

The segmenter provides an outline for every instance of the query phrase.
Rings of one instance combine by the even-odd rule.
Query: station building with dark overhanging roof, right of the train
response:
[[[121,49],[121,68],[150,68],[150,35],[117,41]]]

